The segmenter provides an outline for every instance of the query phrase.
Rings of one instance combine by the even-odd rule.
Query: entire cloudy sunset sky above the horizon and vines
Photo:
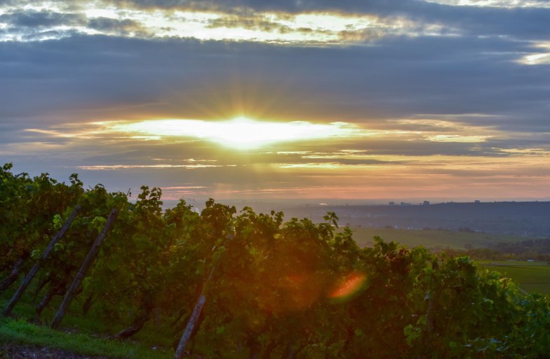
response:
[[[550,199],[550,1],[0,0],[0,162],[165,199]]]

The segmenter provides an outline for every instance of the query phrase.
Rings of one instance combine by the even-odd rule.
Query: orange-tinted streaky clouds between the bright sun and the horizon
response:
[[[75,131],[78,127],[69,128]],[[301,197],[357,198],[367,192],[369,197],[384,197],[388,188],[394,196],[410,196],[412,192],[406,188],[411,185],[418,186],[416,195],[423,195],[426,186],[440,195],[458,193],[459,186],[473,194],[487,191],[495,183],[504,191],[522,181],[535,186],[547,183],[544,164],[550,155],[550,148],[510,148],[502,153],[493,149],[493,154],[489,148],[480,148],[481,154],[475,156],[469,154],[472,144],[468,143],[428,144],[402,139],[307,146],[296,143],[280,151],[243,152],[221,149],[207,141],[140,141],[76,132],[67,137],[71,133],[60,127],[33,133],[37,135],[34,142],[10,146],[16,164],[18,160],[27,164],[36,161],[34,167],[27,165],[26,171],[48,167],[57,178],[77,171],[85,183],[108,179],[109,188],[124,192],[144,184],[178,187],[186,183],[186,189],[165,190],[167,199],[262,194],[296,197],[297,193]],[[65,141],[44,146],[48,137],[55,136],[65,136]],[[0,153],[3,149],[0,147]],[[520,173],[523,179],[517,177]]]

